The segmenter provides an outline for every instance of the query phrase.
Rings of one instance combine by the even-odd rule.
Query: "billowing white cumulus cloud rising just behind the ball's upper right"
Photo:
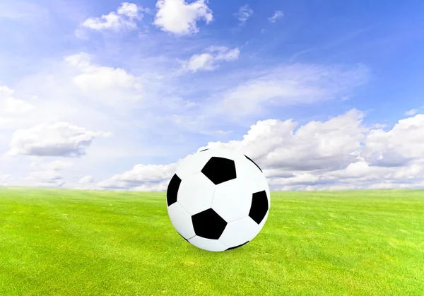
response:
[[[265,169],[281,174],[298,171],[338,170],[357,159],[367,131],[363,113],[355,109],[326,122],[304,126],[292,119],[259,121],[242,141],[208,143],[206,148],[230,148],[254,158]],[[276,177],[276,172],[273,172]]]

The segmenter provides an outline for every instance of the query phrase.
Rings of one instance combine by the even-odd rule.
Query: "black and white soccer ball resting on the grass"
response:
[[[175,230],[207,251],[247,244],[264,227],[270,203],[259,166],[228,149],[190,155],[167,187],[167,211]]]

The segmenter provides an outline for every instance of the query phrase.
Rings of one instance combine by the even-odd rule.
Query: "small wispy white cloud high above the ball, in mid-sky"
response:
[[[240,49],[227,47],[209,47],[201,54],[194,54],[187,61],[183,61],[183,71],[212,71],[218,68],[223,61],[235,61],[240,55]]]

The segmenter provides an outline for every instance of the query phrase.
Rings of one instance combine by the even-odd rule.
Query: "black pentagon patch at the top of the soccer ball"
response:
[[[215,156],[206,162],[201,172],[216,185],[237,177],[234,160]]]

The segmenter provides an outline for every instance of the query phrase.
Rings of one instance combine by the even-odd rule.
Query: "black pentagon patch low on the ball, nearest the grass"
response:
[[[192,223],[194,233],[206,239],[219,239],[227,226],[227,222],[211,208],[192,215]]]

